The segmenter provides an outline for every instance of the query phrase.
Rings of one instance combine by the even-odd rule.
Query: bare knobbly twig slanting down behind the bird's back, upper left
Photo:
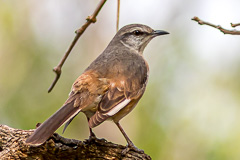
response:
[[[61,76],[61,69],[62,69],[62,66],[64,64],[64,62],[66,61],[68,55],[71,53],[73,47],[75,46],[75,44],[77,43],[79,37],[83,34],[83,32],[87,29],[87,27],[91,24],[91,23],[95,23],[97,20],[96,20],[96,17],[99,13],[99,11],[102,9],[103,5],[105,4],[107,0],[101,0],[97,6],[97,8],[95,9],[95,11],[93,12],[93,14],[91,16],[88,16],[86,18],[86,23],[81,27],[79,28],[78,30],[75,31],[76,33],[76,36],[74,37],[71,45],[69,46],[68,50],[66,51],[65,55],[63,56],[63,58],[61,59],[61,61],[59,62],[59,64],[53,68],[53,72],[56,73],[56,77],[53,81],[53,83],[51,84],[51,86],[49,87],[48,89],[48,93],[52,91],[53,87],[56,85],[58,79],[60,78]]]

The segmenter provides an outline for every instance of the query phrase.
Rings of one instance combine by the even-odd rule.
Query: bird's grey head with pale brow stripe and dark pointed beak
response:
[[[130,24],[121,28],[113,40],[115,41],[114,43],[116,41],[120,42],[125,47],[142,54],[151,39],[164,34],[169,33],[163,30],[153,30],[142,24]]]

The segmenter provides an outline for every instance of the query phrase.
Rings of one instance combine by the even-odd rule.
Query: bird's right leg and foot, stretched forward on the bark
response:
[[[139,153],[143,153],[144,151],[141,150],[141,149],[138,149],[134,144],[133,142],[130,140],[130,138],[127,136],[127,134],[125,133],[125,131],[123,130],[122,126],[120,125],[119,122],[115,122],[116,125],[118,126],[119,130],[122,132],[123,136],[125,137],[128,145],[127,145],[127,148],[123,150],[122,154],[126,154],[129,150],[134,150],[136,152],[139,152]]]

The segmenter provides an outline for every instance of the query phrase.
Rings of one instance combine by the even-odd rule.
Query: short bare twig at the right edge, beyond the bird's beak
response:
[[[200,25],[208,25],[208,26],[211,26],[213,28],[216,28],[224,34],[240,35],[240,31],[238,31],[238,30],[235,30],[235,29],[234,30],[228,30],[228,29],[222,28],[220,25],[215,25],[215,24],[212,24],[212,23],[209,23],[209,22],[205,22],[205,21],[199,19],[198,17],[193,17],[192,20],[198,22],[198,24],[200,24]],[[240,24],[231,24],[231,25],[232,25],[232,27],[236,27],[236,26],[239,26]]]

